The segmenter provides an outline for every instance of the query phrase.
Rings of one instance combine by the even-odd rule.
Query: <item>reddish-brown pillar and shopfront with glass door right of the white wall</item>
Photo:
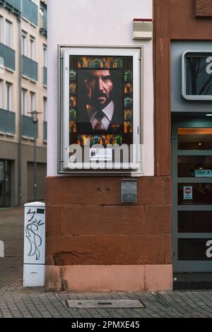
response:
[[[206,282],[212,272],[212,1],[154,2],[155,174],[172,177],[172,194],[166,192],[173,272],[195,272],[193,282],[205,273]],[[182,287],[186,278],[174,280]]]

